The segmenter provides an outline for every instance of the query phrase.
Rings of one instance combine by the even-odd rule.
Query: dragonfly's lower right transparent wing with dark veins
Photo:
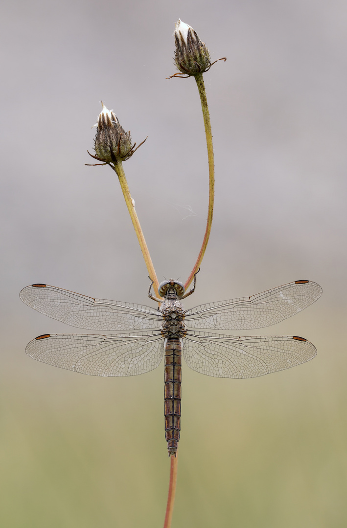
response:
[[[234,337],[189,332],[183,356],[187,365],[217,378],[255,378],[289,369],[315,357],[312,343],[296,336]]]

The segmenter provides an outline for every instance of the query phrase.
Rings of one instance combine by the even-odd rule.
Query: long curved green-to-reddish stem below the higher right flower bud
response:
[[[191,281],[194,278],[194,274],[199,269],[200,263],[202,262],[205,251],[206,251],[209,233],[211,232],[211,226],[212,226],[213,202],[214,202],[214,156],[213,156],[213,144],[212,144],[212,130],[211,130],[211,121],[209,119],[209,112],[208,112],[208,105],[207,105],[206,90],[205,90],[203,74],[198,73],[195,76],[195,81],[196,81],[196,84],[199,90],[199,96],[200,96],[201,106],[203,110],[204,125],[205,125],[205,135],[206,135],[207,155],[208,155],[209,196],[208,196],[207,224],[206,224],[206,231],[205,231],[205,235],[203,239],[203,244],[200,249],[195,266],[193,270],[191,270],[191,274],[189,275],[187,282],[185,284],[186,289],[191,284]]]

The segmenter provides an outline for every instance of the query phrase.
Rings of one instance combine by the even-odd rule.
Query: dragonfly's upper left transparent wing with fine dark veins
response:
[[[89,330],[159,328],[162,314],[141,304],[93,299],[47,284],[33,284],[20,293],[23,303],[52,319]]]

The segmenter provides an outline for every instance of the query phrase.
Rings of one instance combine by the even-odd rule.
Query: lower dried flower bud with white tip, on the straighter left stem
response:
[[[97,159],[105,163],[125,161],[134,153],[130,131],[125,132],[113,111],[107,110],[103,102],[102,105],[102,112],[94,125],[97,127],[94,140]]]

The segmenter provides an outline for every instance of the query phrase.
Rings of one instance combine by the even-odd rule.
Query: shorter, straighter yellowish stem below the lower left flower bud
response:
[[[130,194],[130,191],[129,191],[129,186],[127,185],[127,181],[126,181],[126,177],[125,177],[125,173],[124,173],[124,169],[123,169],[123,164],[122,164],[121,161],[119,161],[119,162],[115,163],[114,166],[111,165],[111,167],[117,173],[118,180],[119,180],[119,182],[121,184],[121,188],[122,188],[122,191],[123,191],[123,196],[124,196],[124,200],[125,200],[125,203],[126,203],[126,206],[127,206],[127,210],[129,211],[129,214],[130,214],[130,217],[131,217],[131,221],[132,221],[134,229],[135,229],[136,237],[138,237],[138,241],[139,241],[139,244],[140,244],[140,248],[141,248],[141,251],[142,251],[142,254],[143,254],[143,258],[144,258],[145,264],[146,264],[147,269],[148,269],[149,276],[150,276],[151,280],[153,280],[154,291],[156,291],[156,293],[157,293],[159,282],[158,282],[158,279],[157,279],[156,270],[154,269],[153,262],[152,262],[150,254],[149,254],[149,250],[148,250],[146,241],[144,239],[144,235],[143,235],[143,232],[142,232],[142,229],[141,229],[141,225],[140,225],[140,222],[139,222],[139,219],[138,219],[138,215],[136,214],[136,211],[135,211],[134,202],[132,200],[132,197],[131,197],[131,194]]]

